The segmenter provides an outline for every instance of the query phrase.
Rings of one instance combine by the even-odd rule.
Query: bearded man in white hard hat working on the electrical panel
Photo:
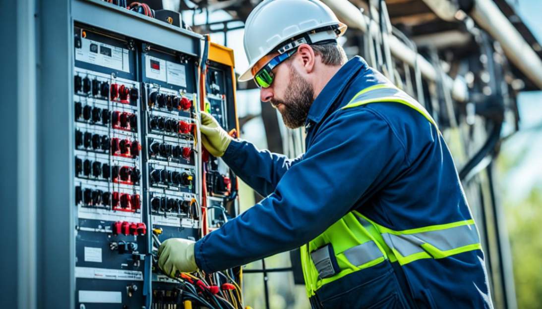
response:
[[[261,100],[306,153],[232,139],[202,114],[205,148],[267,198],[193,243],[166,240],[170,275],[214,272],[301,246],[314,308],[490,308],[478,231],[436,123],[360,57],[318,0],[263,1],[244,48]]]

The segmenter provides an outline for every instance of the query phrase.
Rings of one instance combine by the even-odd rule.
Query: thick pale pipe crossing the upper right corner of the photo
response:
[[[492,0],[475,0],[473,19],[499,41],[506,56],[542,89],[542,61]]]

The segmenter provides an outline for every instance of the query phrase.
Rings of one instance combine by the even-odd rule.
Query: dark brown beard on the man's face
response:
[[[304,126],[307,120],[309,109],[311,109],[314,100],[314,89],[299,73],[292,67],[291,82],[284,95],[284,100],[273,99],[271,104],[277,108],[282,104],[282,109],[278,109],[282,115],[282,121],[286,127],[296,129]]]

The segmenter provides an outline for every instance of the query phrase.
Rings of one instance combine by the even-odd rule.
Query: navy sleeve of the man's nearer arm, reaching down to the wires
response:
[[[272,194],[196,242],[200,269],[220,271],[300,247],[404,169],[403,144],[373,111],[330,117]]]

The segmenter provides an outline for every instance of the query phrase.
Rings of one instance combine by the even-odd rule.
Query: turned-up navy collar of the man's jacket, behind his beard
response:
[[[331,80],[312,103],[312,106],[308,111],[307,120],[305,121],[306,128],[311,126],[310,122],[319,123],[322,120],[327,111],[333,106],[335,100],[337,100],[337,97],[350,82],[352,76],[365,67],[367,67],[365,60],[363,60],[362,57],[355,56],[346,62],[339,71],[333,75]]]

